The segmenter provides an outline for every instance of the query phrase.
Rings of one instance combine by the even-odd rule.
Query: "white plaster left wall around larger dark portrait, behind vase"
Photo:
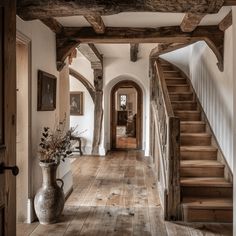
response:
[[[24,22],[17,17],[17,30],[31,40],[31,102],[32,102],[32,147],[31,147],[31,196],[33,198],[42,183],[42,173],[38,165],[38,144],[44,126],[53,128],[59,119],[59,83],[57,83],[57,109],[55,111],[37,111],[37,73],[38,69],[59,77],[56,69],[56,41],[55,34],[40,21]],[[24,112],[24,111],[22,111]],[[67,167],[65,167],[66,169]],[[64,174],[64,172],[63,172]],[[63,176],[59,176],[63,177]],[[72,185],[72,182],[67,182]],[[68,187],[68,186],[67,186]]]

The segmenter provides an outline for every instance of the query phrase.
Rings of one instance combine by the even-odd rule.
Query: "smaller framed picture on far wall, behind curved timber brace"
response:
[[[82,116],[84,114],[83,96],[83,92],[70,92],[70,114],[72,116]]]

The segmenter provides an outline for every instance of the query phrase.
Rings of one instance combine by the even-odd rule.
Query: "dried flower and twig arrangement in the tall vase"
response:
[[[71,135],[74,129],[65,131],[65,119],[59,122],[57,127],[52,131],[49,127],[44,127],[39,144],[40,161],[57,162],[71,155]]]

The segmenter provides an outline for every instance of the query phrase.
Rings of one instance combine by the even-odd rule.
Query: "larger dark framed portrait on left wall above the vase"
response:
[[[57,78],[47,72],[38,71],[38,111],[56,109]]]

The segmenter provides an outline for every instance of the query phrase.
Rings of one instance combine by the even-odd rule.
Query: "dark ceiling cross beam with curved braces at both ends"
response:
[[[71,50],[81,43],[192,43],[205,41],[218,59],[223,70],[224,32],[218,26],[199,26],[193,32],[182,32],[180,27],[160,28],[112,28],[107,27],[103,35],[96,34],[91,27],[64,28],[57,35],[57,65],[63,66]],[[60,69],[60,67],[58,68]]]

